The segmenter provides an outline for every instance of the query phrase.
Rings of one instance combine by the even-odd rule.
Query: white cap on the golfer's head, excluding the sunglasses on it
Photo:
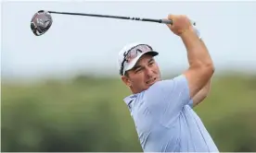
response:
[[[122,50],[120,51],[120,53],[118,54],[118,65],[119,65],[119,69],[120,69],[120,75],[124,75],[124,72],[127,71],[127,70],[130,70],[134,67],[134,65],[136,65],[137,61],[140,59],[140,57],[147,53],[147,54],[151,54],[152,56],[156,56],[158,55],[159,53],[158,52],[155,52],[153,49],[152,50],[148,50],[147,52],[143,52],[143,53],[138,53],[137,56],[130,62],[130,63],[126,63],[124,62],[123,63],[123,60],[124,60],[124,56],[125,56],[125,53],[127,53],[129,50],[131,50],[132,48],[135,48],[136,46],[139,46],[139,45],[147,45],[149,48],[152,49],[152,47],[146,43],[139,43],[139,42],[134,42],[134,43],[129,43],[129,44],[126,44]],[[121,69],[122,69],[122,63],[123,63],[123,70],[121,72]]]

